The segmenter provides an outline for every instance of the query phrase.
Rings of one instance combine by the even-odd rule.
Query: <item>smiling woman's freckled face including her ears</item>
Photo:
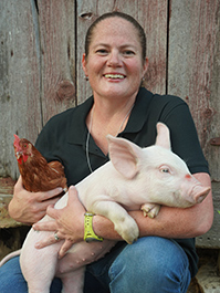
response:
[[[143,61],[136,28],[127,20],[109,18],[94,28],[88,55],[83,55],[94,97],[136,96],[148,60]]]

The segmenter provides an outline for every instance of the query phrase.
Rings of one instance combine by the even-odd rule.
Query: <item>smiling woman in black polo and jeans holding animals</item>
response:
[[[93,96],[81,106],[54,116],[36,142],[48,160],[62,161],[69,186],[108,160],[107,134],[128,138],[142,147],[153,145],[158,121],[170,128],[172,150],[186,160],[193,176],[211,185],[186,103],[140,87],[148,66],[146,39],[133,18],[121,12],[98,18],[88,29],[82,63]],[[59,192],[55,189],[30,195],[20,178],[9,211],[12,218],[28,223],[36,222],[48,212],[55,221],[34,228],[57,232],[39,243],[39,248],[66,239],[60,252],[63,255],[70,244],[83,241],[85,209],[76,190],[71,188],[69,205],[63,210],[49,207],[46,211]],[[193,238],[207,232],[212,223],[211,192],[192,208],[163,207],[156,219],[144,218],[142,211],[129,214],[140,231],[132,245],[122,241],[109,220],[93,217],[94,232],[118,240],[118,244],[105,258],[87,265],[85,292],[98,292],[94,276],[102,283],[99,292],[187,292],[191,276],[197,273]],[[12,276],[15,272],[17,276]],[[18,281],[22,290],[17,292],[27,292],[18,258],[1,268],[0,279],[3,282],[0,292],[12,292],[9,286],[13,287]],[[60,291],[55,280],[51,292]]]

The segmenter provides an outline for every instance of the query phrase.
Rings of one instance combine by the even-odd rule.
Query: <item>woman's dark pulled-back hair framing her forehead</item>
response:
[[[147,39],[146,39],[146,34],[145,34],[143,27],[132,15],[119,12],[119,11],[113,11],[113,12],[104,13],[91,24],[91,27],[87,30],[86,36],[85,36],[85,55],[86,56],[88,55],[90,44],[92,41],[93,31],[94,31],[95,27],[101,21],[103,21],[105,19],[109,19],[109,18],[122,18],[122,19],[129,21],[134,25],[134,28],[137,30],[138,35],[139,35],[139,41],[140,41],[140,45],[142,45],[142,50],[143,50],[143,52],[142,52],[143,61],[145,61],[146,50],[147,50]]]

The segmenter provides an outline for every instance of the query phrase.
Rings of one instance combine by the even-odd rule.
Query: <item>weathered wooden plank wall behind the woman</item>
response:
[[[11,193],[6,180],[12,186],[18,178],[13,134],[34,142],[52,115],[91,94],[81,66],[84,36],[112,10],[132,14],[146,31],[145,86],[189,104],[218,209],[220,146],[211,139],[220,136],[220,0],[1,0],[0,196]]]

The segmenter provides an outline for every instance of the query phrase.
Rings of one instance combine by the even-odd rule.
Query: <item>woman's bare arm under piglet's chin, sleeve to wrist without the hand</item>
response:
[[[208,174],[193,175],[205,186],[211,187]],[[163,206],[154,219],[144,217],[142,211],[130,211],[129,214],[139,227],[139,236],[159,236],[165,238],[193,238],[206,233],[212,226],[213,205],[211,191],[207,198],[191,208],[169,208]],[[113,223],[101,216],[94,216],[94,231],[97,236],[108,239],[122,238],[114,231]]]

